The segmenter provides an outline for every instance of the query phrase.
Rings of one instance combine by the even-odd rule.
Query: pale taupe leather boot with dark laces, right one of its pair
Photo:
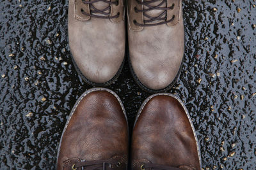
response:
[[[179,77],[184,56],[182,1],[127,2],[132,75],[148,92],[166,91]]]

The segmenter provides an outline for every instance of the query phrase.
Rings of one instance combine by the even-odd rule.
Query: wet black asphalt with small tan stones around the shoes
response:
[[[183,1],[180,78],[203,169],[256,169],[256,1]],[[0,2],[0,169],[56,169],[61,132],[76,99],[92,88],[72,64],[68,1]],[[127,53],[127,55],[129,55]],[[127,61],[108,87],[130,128],[150,96]]]

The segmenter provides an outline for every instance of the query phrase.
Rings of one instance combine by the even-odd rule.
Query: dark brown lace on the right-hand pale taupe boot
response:
[[[166,24],[168,22],[172,22],[174,20],[174,15],[173,17],[170,19],[170,20],[166,20],[166,14],[167,14],[167,10],[173,10],[174,8],[174,4],[172,4],[172,6],[170,7],[160,7],[161,5],[164,4],[164,2],[166,2],[166,0],[150,0],[150,1],[142,1],[141,0],[136,0],[138,4],[141,4],[141,5],[145,5],[148,7],[148,9],[145,9],[145,10],[138,10],[138,8],[134,8],[135,12],[138,13],[138,12],[142,12],[143,15],[147,18],[149,18],[148,20],[143,20],[144,24],[140,24],[138,23],[136,20],[133,20],[134,24],[135,25],[138,25],[138,26],[141,26],[141,27],[145,27],[145,26],[155,26],[155,25],[161,25],[161,24]],[[161,3],[157,4],[157,6],[152,6],[150,5],[151,3],[155,3],[157,1],[161,1]],[[147,11],[151,11],[151,10],[163,10],[162,13],[160,13],[160,15],[158,15],[157,17],[152,17],[150,15],[147,15],[145,12]],[[156,20],[164,20],[163,22],[158,22],[158,23],[155,23],[155,24],[146,24],[148,22],[154,22]]]

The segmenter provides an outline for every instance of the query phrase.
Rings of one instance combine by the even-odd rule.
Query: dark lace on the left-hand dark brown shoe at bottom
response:
[[[109,160],[93,160],[88,162],[77,162],[76,164],[72,165],[72,170],[76,170],[77,167],[85,167],[86,170],[98,170],[102,169],[105,170],[107,166],[111,166],[115,164],[116,166],[120,166],[120,162],[118,160],[109,159]]]

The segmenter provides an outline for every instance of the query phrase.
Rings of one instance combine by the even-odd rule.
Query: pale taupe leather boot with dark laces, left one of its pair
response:
[[[68,40],[86,83],[113,83],[124,66],[124,0],[69,0]]]

